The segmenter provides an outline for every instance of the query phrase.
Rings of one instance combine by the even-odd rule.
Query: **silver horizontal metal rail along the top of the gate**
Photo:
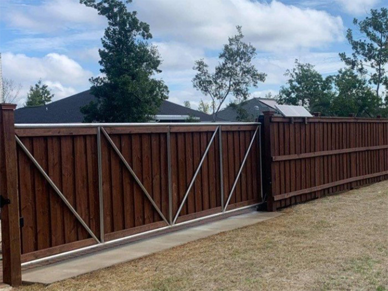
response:
[[[97,128],[97,127],[162,127],[162,126],[219,126],[259,125],[258,122],[146,122],[146,123],[35,123],[15,124],[15,129]]]

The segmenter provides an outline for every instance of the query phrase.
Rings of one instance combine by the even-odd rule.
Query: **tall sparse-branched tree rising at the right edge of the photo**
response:
[[[371,16],[362,21],[354,18],[362,38],[353,35],[348,29],[346,38],[352,46],[353,53],[347,56],[342,52],[339,57],[346,65],[361,75],[370,77],[369,83],[376,85],[376,95],[380,97],[380,87],[388,88],[388,76],[384,66],[388,62],[388,10],[371,9]]]

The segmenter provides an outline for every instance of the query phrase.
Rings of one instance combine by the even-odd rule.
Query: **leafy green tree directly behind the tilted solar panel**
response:
[[[280,88],[279,104],[301,105],[310,112],[330,114],[332,77],[323,78],[313,65],[302,64],[298,60],[295,60],[295,67],[288,69],[284,75],[289,77],[288,86]]]

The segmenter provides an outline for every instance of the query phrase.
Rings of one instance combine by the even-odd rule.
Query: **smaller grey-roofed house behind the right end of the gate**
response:
[[[256,118],[264,111],[273,111],[276,112],[275,105],[277,105],[275,99],[270,98],[252,98],[242,102],[241,106],[248,114],[248,121],[255,121]],[[217,117],[225,119],[230,122],[237,121],[238,113],[236,109],[228,106],[225,109],[221,110]]]

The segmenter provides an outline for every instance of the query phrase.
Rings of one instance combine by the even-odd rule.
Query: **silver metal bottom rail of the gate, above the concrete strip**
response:
[[[158,231],[163,231],[165,229],[171,229],[171,228],[176,228],[176,227],[179,227],[179,226],[190,225],[190,224],[198,222],[198,221],[202,221],[202,220],[205,220],[205,219],[209,219],[209,218],[213,218],[213,217],[217,217],[217,216],[221,216],[221,215],[226,215],[228,213],[233,213],[233,212],[240,211],[240,210],[245,210],[245,209],[249,209],[249,208],[254,209],[256,206],[258,206],[260,204],[262,204],[262,202],[261,203],[256,203],[256,204],[252,204],[252,205],[248,205],[248,206],[244,206],[244,207],[241,207],[241,208],[227,210],[225,212],[219,212],[219,213],[211,214],[211,215],[208,215],[208,216],[203,216],[203,217],[195,218],[195,219],[192,219],[192,220],[188,220],[188,221],[177,223],[175,225],[163,226],[163,227],[160,227],[160,228],[151,229],[151,230],[148,230],[148,231],[145,231],[145,232],[136,233],[136,234],[133,234],[133,235],[130,235],[130,236],[127,236],[127,237],[119,238],[119,239],[108,241],[108,242],[102,242],[102,243],[98,243],[98,244],[93,244],[93,245],[85,246],[83,248],[79,248],[79,249],[72,250],[72,251],[67,251],[67,252],[56,254],[56,255],[52,255],[52,256],[49,256],[49,257],[45,257],[45,258],[41,258],[41,259],[34,259],[34,260],[31,260],[31,261],[22,263],[21,266],[22,267],[31,266],[33,264],[41,263],[41,262],[44,262],[44,261],[47,261],[47,260],[50,260],[50,259],[58,259],[58,258],[62,258],[62,257],[68,256],[68,255],[71,255],[71,254],[81,253],[81,252],[84,252],[86,250],[94,249],[94,248],[97,248],[97,247],[104,247],[104,246],[107,246],[107,245],[110,245],[110,244],[114,244],[114,243],[117,243],[117,242],[125,242],[125,241],[128,241],[130,239],[133,239],[133,238],[136,238],[136,237],[139,237],[139,236],[143,236],[143,235],[147,235],[147,234],[152,234],[152,233],[155,233],[155,232],[158,232]]]

